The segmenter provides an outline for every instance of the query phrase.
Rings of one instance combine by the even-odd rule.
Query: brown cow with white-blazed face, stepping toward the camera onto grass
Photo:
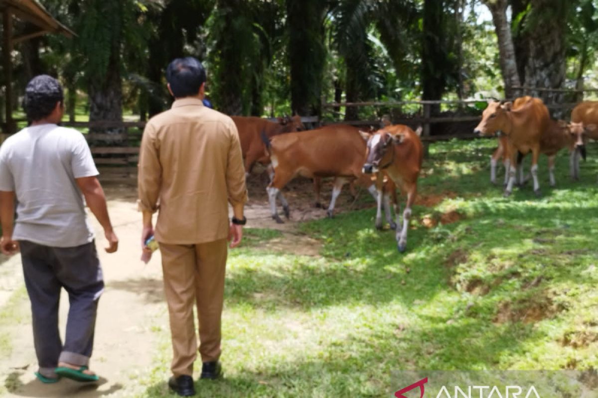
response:
[[[422,128],[417,131],[405,125],[392,125],[380,129],[367,139],[367,155],[363,166],[364,174],[376,174],[376,188],[378,190],[378,207],[376,212],[376,227],[382,224],[382,184],[383,172],[407,193],[407,204],[403,212],[402,229],[399,231],[399,204],[395,202],[396,240],[399,252],[404,252],[407,246],[407,230],[411,218],[411,205],[417,195],[417,178],[422,169],[423,145],[419,138]]]

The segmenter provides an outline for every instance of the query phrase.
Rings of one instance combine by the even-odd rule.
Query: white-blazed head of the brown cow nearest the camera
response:
[[[367,142],[365,149],[365,163],[362,168],[364,174],[373,174],[392,163],[394,156],[393,146],[401,144],[405,139],[404,134],[390,134],[385,129],[380,129],[373,134],[359,131],[359,134]]]

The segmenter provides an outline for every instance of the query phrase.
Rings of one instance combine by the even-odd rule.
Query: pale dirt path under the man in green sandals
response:
[[[18,397],[99,397],[132,396],[136,383],[132,377],[143,377],[151,370],[155,354],[151,325],[166,322],[163,303],[161,270],[158,257],[144,266],[139,261],[141,218],[136,211],[134,189],[106,189],[109,212],[120,238],[118,252],[103,251],[105,239],[95,223],[96,241],[104,271],[106,289],[100,299],[96,322],[96,338],[91,368],[102,379],[97,388],[69,380],[44,385],[35,380],[35,351],[30,323],[29,302],[17,303],[17,312],[24,317],[10,328],[12,353],[0,359],[0,377],[8,390],[5,396]],[[93,219],[93,217],[92,217]],[[0,308],[16,289],[21,288],[20,257],[10,258],[0,266]],[[4,277],[3,277],[4,276]],[[64,331],[68,297],[60,305],[61,331]],[[157,317],[157,319],[156,319]]]

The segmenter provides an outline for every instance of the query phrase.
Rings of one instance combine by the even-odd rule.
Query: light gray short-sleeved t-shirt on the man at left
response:
[[[83,134],[44,124],[8,137],[0,146],[0,190],[14,191],[14,240],[72,247],[93,240],[75,178],[98,175]]]

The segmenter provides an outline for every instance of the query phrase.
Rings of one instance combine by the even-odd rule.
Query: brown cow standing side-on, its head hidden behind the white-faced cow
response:
[[[282,202],[285,216],[289,206],[280,190],[297,175],[307,178],[335,177],[328,215],[347,181],[362,177],[361,166],[365,143],[359,129],[350,125],[329,125],[309,131],[264,137],[270,153],[274,177],[267,187],[272,218],[282,223],[276,211],[276,197]],[[280,195],[279,195],[280,194]]]

